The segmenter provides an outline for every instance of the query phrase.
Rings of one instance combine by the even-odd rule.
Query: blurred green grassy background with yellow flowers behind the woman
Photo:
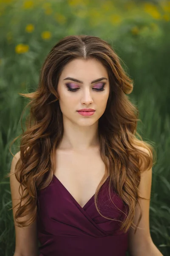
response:
[[[12,256],[15,233],[9,178],[11,141],[22,133],[28,101],[50,49],[67,35],[108,41],[134,81],[129,99],[139,109],[138,132],[153,142],[150,233],[170,255],[170,1],[0,0],[0,255]],[[27,111],[26,111],[27,114]],[[25,116],[23,116],[23,126]],[[12,153],[18,151],[16,141]],[[128,254],[127,254],[128,255]]]

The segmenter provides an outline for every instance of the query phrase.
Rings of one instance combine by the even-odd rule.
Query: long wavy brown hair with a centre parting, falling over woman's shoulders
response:
[[[133,217],[139,198],[142,198],[138,191],[141,172],[153,166],[153,151],[154,153],[156,151],[152,145],[144,142],[136,131],[137,121],[140,120],[137,119],[139,111],[127,96],[133,90],[133,80],[127,76],[121,66],[121,59],[116,55],[111,44],[90,35],[71,35],[62,38],[48,53],[42,65],[37,90],[33,93],[19,93],[29,99],[25,108],[30,107],[30,111],[26,119],[26,131],[22,125],[24,108],[21,115],[23,133],[11,143],[21,137],[20,158],[15,166],[14,175],[20,182],[22,193],[20,193],[20,203],[15,206],[20,204],[14,220],[18,227],[26,227],[36,219],[37,191],[47,187],[53,179],[56,167],[55,151],[63,136],[57,84],[65,65],[75,58],[95,58],[101,61],[108,71],[110,93],[105,112],[99,118],[98,124],[99,148],[105,163],[105,175],[96,189],[94,201],[99,212],[97,196],[101,186],[109,177],[110,198],[111,188],[114,188],[128,207],[128,214],[122,212],[126,216],[124,221],[119,220],[122,223],[120,230],[126,233],[131,226],[138,227],[133,223]],[[10,175],[12,174],[9,173],[6,177]],[[22,201],[25,203],[21,205]],[[18,220],[28,213],[29,219]],[[101,212],[99,214],[102,215]],[[138,224],[141,218],[140,207]]]

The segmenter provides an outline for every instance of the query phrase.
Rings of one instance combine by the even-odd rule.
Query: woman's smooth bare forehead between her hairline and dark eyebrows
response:
[[[65,65],[61,73],[61,79],[66,76],[77,79],[98,79],[102,76],[108,77],[108,72],[103,64],[96,59],[74,59]]]

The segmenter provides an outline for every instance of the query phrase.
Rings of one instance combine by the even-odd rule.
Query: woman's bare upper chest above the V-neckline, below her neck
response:
[[[104,174],[105,164],[99,152],[56,153],[54,175],[81,207],[95,194]]]

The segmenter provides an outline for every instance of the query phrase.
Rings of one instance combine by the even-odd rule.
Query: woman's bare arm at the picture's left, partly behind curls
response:
[[[20,158],[20,151],[15,154],[11,162],[11,173],[14,173],[17,160]],[[10,176],[11,187],[11,199],[12,207],[14,207],[20,201],[19,194],[20,183],[17,181],[15,175]],[[21,189],[20,189],[21,191]],[[23,204],[23,203],[22,203]],[[17,206],[19,207],[19,205]],[[17,207],[13,209],[13,216],[17,211]],[[19,218],[19,220],[26,220],[28,216]],[[15,252],[14,256],[38,256],[38,240],[37,240],[37,222],[34,221],[28,227],[17,227],[14,221],[15,227]]]

